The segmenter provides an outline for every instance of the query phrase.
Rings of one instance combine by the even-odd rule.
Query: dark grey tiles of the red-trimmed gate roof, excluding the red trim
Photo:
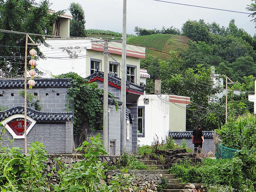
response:
[[[94,74],[86,77],[87,79],[91,80],[94,79],[95,77],[100,77],[101,79],[104,79],[104,73],[102,71],[97,71]],[[108,74],[108,81],[110,83],[116,84],[117,86],[121,86],[121,78]],[[135,91],[135,92],[140,92],[140,93],[144,93],[144,87],[128,82],[126,81],[126,88],[130,91]]]

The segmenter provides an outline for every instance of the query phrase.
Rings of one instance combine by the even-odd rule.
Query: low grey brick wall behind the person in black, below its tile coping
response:
[[[182,140],[183,139],[176,139],[176,138],[174,138],[174,141],[177,144],[181,144]],[[186,144],[187,144],[187,147],[192,148],[194,150],[194,144],[192,143],[192,139],[191,138],[187,138],[186,139]],[[213,139],[205,138],[202,149],[206,153],[206,155],[207,155],[207,153],[209,151],[213,152],[213,154],[215,155],[215,148],[214,148]]]

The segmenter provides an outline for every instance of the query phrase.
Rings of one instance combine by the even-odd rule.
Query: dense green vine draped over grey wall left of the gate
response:
[[[103,124],[103,90],[98,88],[96,82],[89,83],[88,79],[70,72],[55,78],[71,78],[68,88],[69,108],[74,112],[74,135],[83,137],[90,130],[101,130]],[[118,101],[109,93],[109,97],[115,100],[118,110]]]

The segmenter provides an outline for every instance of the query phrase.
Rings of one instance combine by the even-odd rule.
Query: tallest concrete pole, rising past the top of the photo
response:
[[[121,132],[120,153],[124,154],[126,146],[126,0],[123,0],[123,44],[122,44],[122,80],[121,80]]]

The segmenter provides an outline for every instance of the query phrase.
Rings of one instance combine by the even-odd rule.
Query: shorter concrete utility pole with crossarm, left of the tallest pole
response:
[[[102,39],[102,38],[100,38]],[[112,40],[109,40],[112,39]],[[113,37],[104,37],[104,40],[91,41],[104,42],[104,89],[103,89],[103,147],[108,153],[108,43],[122,42],[122,40],[113,40]]]

